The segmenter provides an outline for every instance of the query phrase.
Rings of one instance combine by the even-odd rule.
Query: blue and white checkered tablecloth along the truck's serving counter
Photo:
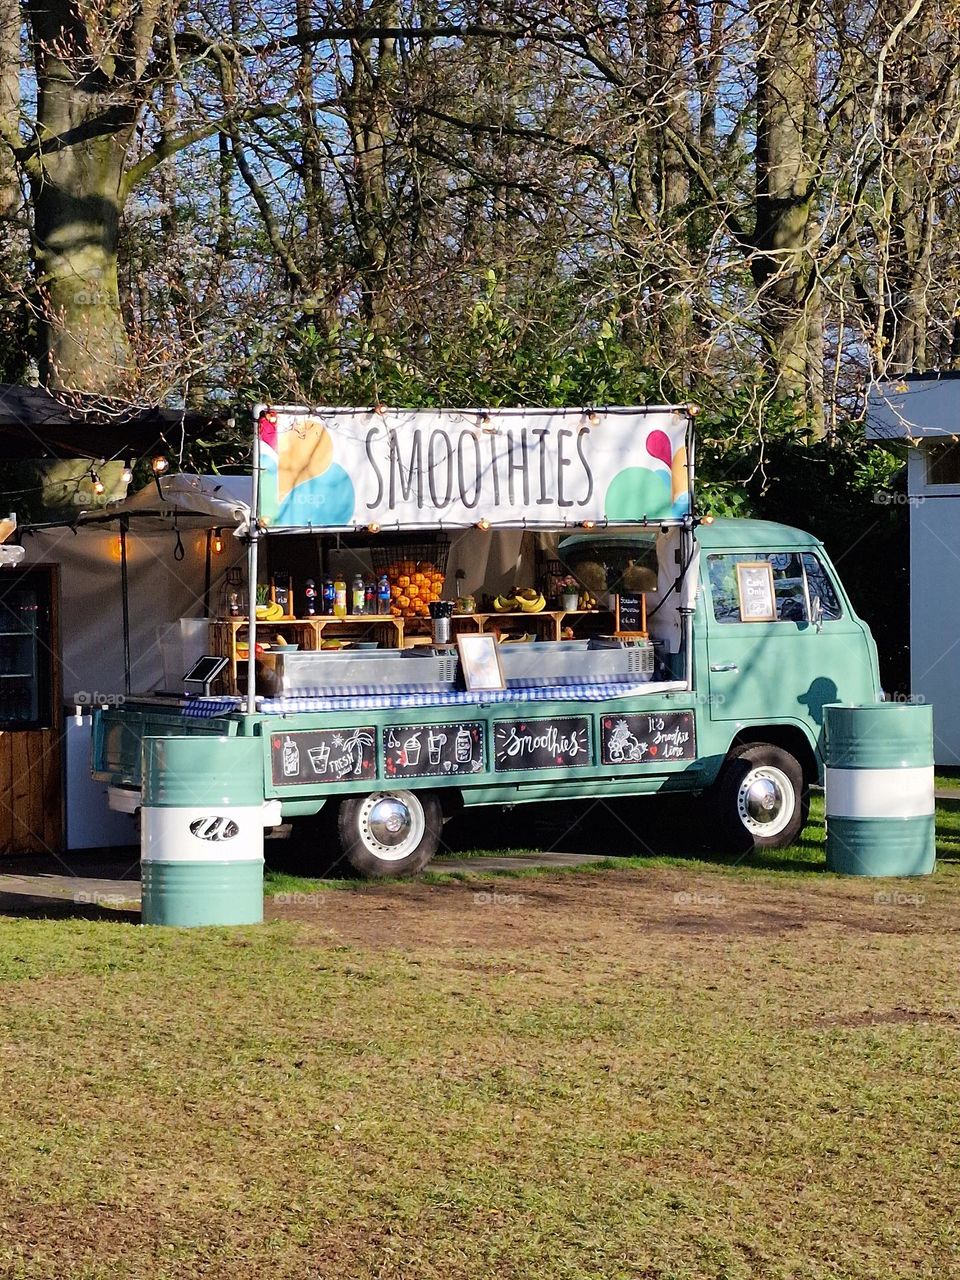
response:
[[[291,716],[297,712],[352,712],[392,710],[419,707],[480,707],[497,703],[604,703],[612,698],[632,698],[650,691],[648,681],[611,681],[608,684],[549,685],[536,689],[495,689],[470,692],[449,689],[417,692],[385,694],[376,685],[351,687],[332,695],[329,690],[303,691],[291,698],[257,699],[257,709],[265,716]],[[237,712],[244,703],[239,698],[189,698],[184,716],[207,719]]]

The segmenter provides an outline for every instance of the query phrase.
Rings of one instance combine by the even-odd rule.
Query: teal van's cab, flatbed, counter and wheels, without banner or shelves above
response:
[[[649,641],[502,644],[504,687],[486,691],[462,687],[449,650],[291,653],[252,710],[232,695],[101,708],[95,777],[134,812],[145,739],[256,737],[265,823],[329,814],[316,829],[365,876],[422,870],[462,808],[557,799],[689,792],[718,846],[791,844],[822,781],[824,707],[882,699],[869,628],[797,529],[686,516],[635,536]]]

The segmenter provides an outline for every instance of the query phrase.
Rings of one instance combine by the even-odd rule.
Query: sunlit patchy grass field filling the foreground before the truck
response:
[[[754,865],[282,872],[261,928],[0,918],[0,1275],[956,1274],[959,814],[923,881],[827,876],[814,822]],[[554,844],[640,820],[600,817]]]

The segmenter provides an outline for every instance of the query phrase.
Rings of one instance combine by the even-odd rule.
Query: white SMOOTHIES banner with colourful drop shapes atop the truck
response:
[[[682,521],[676,408],[257,410],[268,529],[568,527]]]

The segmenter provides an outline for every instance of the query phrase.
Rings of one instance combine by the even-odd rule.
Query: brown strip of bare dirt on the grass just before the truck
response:
[[[370,947],[540,950],[644,938],[777,938],[801,931],[852,934],[952,932],[943,904],[891,909],[870,884],[777,883],[654,868],[476,878],[454,884],[390,883],[269,902],[268,916],[315,925],[325,943]]]

